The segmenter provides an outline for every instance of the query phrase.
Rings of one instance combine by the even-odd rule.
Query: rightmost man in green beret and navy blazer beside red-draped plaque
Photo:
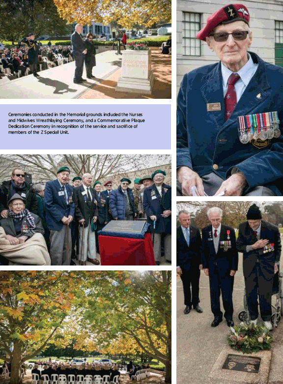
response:
[[[166,261],[171,263],[171,186],[164,183],[165,171],[157,170],[152,175],[153,185],[143,192],[143,209],[147,222],[155,226],[155,264],[161,261],[161,240],[164,239]]]

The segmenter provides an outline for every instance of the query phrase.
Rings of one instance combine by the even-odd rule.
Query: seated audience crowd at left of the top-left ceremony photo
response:
[[[30,37],[30,36],[29,36]],[[34,37],[34,35],[33,35]],[[62,45],[45,45],[43,46],[40,41],[35,43],[35,52],[33,56],[36,56],[35,62],[33,63],[30,58],[30,49],[28,41],[19,42],[18,47],[5,48],[0,50],[2,69],[9,68],[10,75],[16,76],[20,72],[20,77],[28,75],[29,72],[35,74],[39,71],[43,71],[50,66],[57,66],[60,64],[66,64],[68,61],[73,61],[72,58],[72,47]],[[34,41],[34,40],[33,40]],[[34,51],[34,49],[32,49]],[[63,60],[58,59],[57,55],[62,55]],[[29,57],[28,57],[29,56]],[[46,57],[48,62],[43,58]],[[33,68],[35,65],[35,68]],[[4,74],[4,71],[0,69],[0,74]]]

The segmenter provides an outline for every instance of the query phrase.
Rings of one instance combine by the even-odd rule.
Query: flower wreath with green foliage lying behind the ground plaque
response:
[[[271,333],[262,325],[240,323],[230,327],[228,343],[231,348],[243,354],[270,350],[273,342]]]

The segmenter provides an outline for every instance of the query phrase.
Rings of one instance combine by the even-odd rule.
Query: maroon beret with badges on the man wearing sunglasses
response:
[[[206,26],[200,30],[196,37],[205,41],[205,37],[219,24],[229,24],[234,21],[244,21],[249,25],[250,14],[243,4],[229,4],[214,12],[206,21]]]

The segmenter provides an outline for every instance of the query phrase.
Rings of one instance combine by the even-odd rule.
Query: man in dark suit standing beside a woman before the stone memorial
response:
[[[74,75],[74,83],[80,84],[85,81],[83,79],[84,61],[87,50],[85,49],[85,42],[82,39],[81,33],[83,32],[82,24],[77,24],[75,31],[71,36],[73,59],[75,60],[76,69]]]

